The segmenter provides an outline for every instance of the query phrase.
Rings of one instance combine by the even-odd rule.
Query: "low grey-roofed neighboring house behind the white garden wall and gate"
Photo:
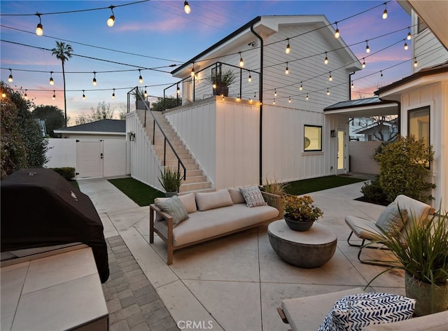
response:
[[[73,139],[126,139],[125,120],[97,120],[95,122],[55,129],[61,138]]]

